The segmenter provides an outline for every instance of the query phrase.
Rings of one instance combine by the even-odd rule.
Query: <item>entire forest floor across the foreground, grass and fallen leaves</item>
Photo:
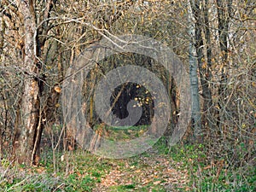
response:
[[[205,146],[166,148],[159,141],[137,156],[114,160],[75,150],[45,150],[38,166],[2,159],[0,191],[255,191],[255,166],[209,160]]]

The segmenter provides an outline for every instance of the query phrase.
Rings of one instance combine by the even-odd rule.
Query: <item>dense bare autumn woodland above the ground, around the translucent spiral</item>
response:
[[[173,49],[189,73],[192,117],[180,144],[203,144],[202,161],[219,160],[219,172],[243,167],[243,175],[256,166],[255,7],[253,0],[1,0],[1,159],[39,165],[49,153],[56,168],[57,153],[79,149],[61,109],[67,69],[102,38],[139,34]],[[180,90],[147,56],[119,54],[96,63],[84,82],[86,118],[99,136],[113,136],[97,117],[93,92],[104,74],[128,64],[147,68],[166,86],[172,117],[163,140],[170,152]],[[121,84],[111,98],[113,113],[125,118],[120,108],[137,98],[143,117],[136,126],[144,129],[152,123],[153,97],[141,84]]]

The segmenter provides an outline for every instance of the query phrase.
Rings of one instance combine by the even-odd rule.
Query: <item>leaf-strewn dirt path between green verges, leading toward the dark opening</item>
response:
[[[120,166],[121,165],[121,166]],[[117,160],[94,191],[184,191],[188,190],[188,172],[182,162],[158,154],[155,149],[136,160]],[[180,189],[180,190],[179,190]]]

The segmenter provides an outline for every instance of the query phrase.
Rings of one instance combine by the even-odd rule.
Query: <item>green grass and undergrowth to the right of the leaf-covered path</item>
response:
[[[183,161],[183,168],[189,170],[191,191],[256,191],[256,167],[229,164],[225,151],[219,156],[210,152],[203,144],[170,148],[172,159]]]

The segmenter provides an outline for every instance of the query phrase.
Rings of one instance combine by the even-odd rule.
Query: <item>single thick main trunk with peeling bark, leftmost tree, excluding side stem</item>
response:
[[[20,101],[20,119],[15,127],[15,157],[19,163],[32,164],[33,149],[38,129],[39,112],[39,87],[35,78],[38,74],[36,64],[36,17],[32,0],[20,1],[20,13],[24,22],[24,67],[26,79],[24,80],[24,92]]]

